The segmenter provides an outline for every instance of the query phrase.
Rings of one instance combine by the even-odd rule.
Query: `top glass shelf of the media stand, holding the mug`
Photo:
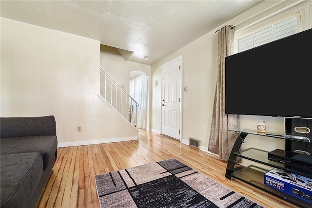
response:
[[[259,136],[267,136],[267,137],[273,137],[273,138],[278,138],[278,139],[285,139],[285,140],[292,140],[292,141],[299,141],[299,142],[311,142],[312,138],[308,136],[309,140],[301,140],[301,139],[291,139],[291,138],[285,138],[283,136],[284,133],[281,132],[269,132],[267,131],[266,133],[260,133],[257,132],[254,129],[229,129],[231,132],[237,132],[237,133],[247,133],[247,134],[253,134],[253,135],[259,135]],[[293,136],[296,136],[295,134],[290,134]]]

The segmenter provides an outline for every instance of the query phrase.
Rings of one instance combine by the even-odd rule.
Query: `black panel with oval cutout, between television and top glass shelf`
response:
[[[312,136],[312,119],[307,118],[285,118],[285,134],[297,136]]]

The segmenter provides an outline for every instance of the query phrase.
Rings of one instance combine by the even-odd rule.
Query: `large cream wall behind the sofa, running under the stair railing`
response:
[[[137,130],[97,96],[99,46],[1,18],[1,116],[54,115],[63,146],[137,139]]]

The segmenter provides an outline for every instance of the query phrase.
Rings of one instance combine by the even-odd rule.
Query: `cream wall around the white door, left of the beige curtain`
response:
[[[217,71],[217,34],[209,33],[196,39],[169,57],[152,65],[153,80],[159,80],[159,86],[153,87],[152,129],[161,130],[161,65],[182,56],[182,82],[188,91],[182,94],[182,139],[189,137],[208,144],[211,100],[215,96]],[[206,146],[207,147],[207,146]]]

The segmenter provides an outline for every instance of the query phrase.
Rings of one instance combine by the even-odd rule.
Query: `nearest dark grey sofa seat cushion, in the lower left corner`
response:
[[[41,154],[1,154],[0,164],[1,208],[26,207],[43,172]]]

